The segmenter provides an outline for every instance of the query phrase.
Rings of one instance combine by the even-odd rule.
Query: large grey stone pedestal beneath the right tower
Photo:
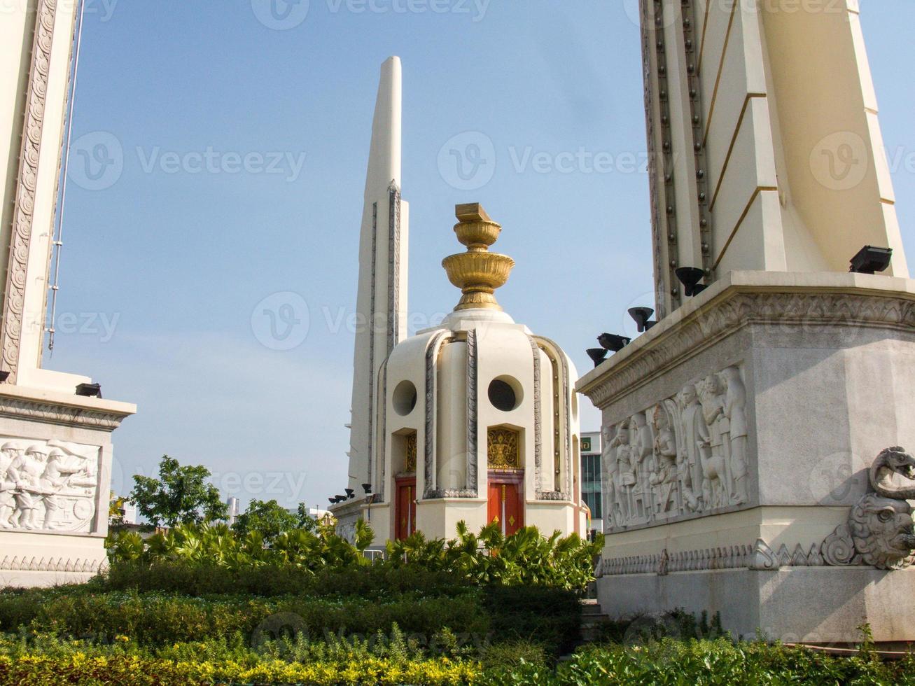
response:
[[[910,280],[734,272],[665,317],[578,383],[603,414],[604,611],[915,639],[915,577],[877,569],[908,567],[910,507],[865,498],[915,446],[913,388]]]

